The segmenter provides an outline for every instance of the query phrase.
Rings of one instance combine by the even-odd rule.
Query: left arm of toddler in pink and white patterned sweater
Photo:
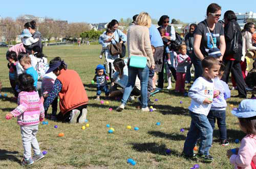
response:
[[[18,107],[16,107],[16,109],[10,112],[10,114],[12,114],[14,117],[17,117],[20,114],[24,113],[28,108],[28,100],[29,100],[28,95],[21,92],[18,95],[18,99],[19,99]]]

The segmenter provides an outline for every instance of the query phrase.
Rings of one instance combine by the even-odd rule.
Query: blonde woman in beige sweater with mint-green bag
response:
[[[124,89],[122,104],[117,108],[117,111],[122,111],[132,92],[135,84],[136,76],[140,78],[141,86],[141,102],[142,111],[150,111],[147,107],[147,81],[149,68],[155,68],[155,61],[150,43],[151,17],[146,12],[141,12],[135,21],[135,25],[129,27],[127,31],[127,47],[128,47],[128,71],[129,80]],[[133,58],[133,59],[132,59]],[[146,59],[144,59],[146,58]],[[145,65],[132,64],[132,60],[141,59]],[[145,66],[145,67],[143,67]],[[142,68],[143,67],[143,68]]]

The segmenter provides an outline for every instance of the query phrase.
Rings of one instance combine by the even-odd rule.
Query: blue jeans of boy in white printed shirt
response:
[[[187,133],[187,138],[184,143],[183,152],[186,155],[193,155],[193,149],[200,138],[199,153],[209,155],[209,150],[212,142],[212,128],[206,115],[197,114],[189,111],[191,116],[190,129]]]

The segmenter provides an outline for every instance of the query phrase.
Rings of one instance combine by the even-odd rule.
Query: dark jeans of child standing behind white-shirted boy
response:
[[[215,122],[217,118],[217,124],[220,131],[220,139],[227,139],[227,128],[226,128],[226,110],[210,110],[207,118],[210,122],[212,130],[215,128]]]

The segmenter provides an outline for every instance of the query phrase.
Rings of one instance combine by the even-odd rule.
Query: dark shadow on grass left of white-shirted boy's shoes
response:
[[[151,152],[153,154],[159,154],[163,156],[167,156],[165,153],[167,150],[165,144],[158,145],[156,142],[146,142],[146,143],[131,143],[133,145],[133,149],[138,152]],[[171,154],[174,156],[180,156],[179,152],[173,149],[169,149]]]

